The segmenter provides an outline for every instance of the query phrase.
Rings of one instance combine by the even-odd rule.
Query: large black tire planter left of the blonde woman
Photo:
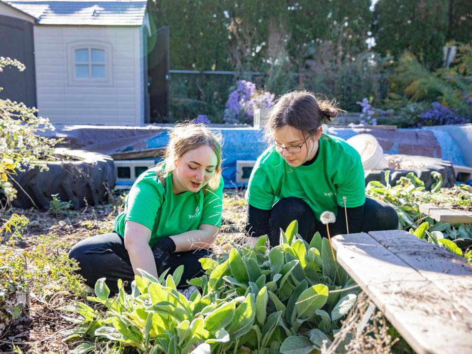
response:
[[[35,168],[13,177],[18,190],[13,207],[48,209],[53,194],[71,201],[75,210],[108,200],[116,182],[111,156],[68,148],[55,149],[54,156],[58,161],[47,162],[48,171]]]

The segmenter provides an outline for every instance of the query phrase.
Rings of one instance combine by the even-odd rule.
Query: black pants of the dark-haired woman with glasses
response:
[[[341,208],[339,208],[341,209]],[[348,208],[349,210],[350,208]],[[344,211],[344,209],[342,209]],[[346,233],[346,222],[344,212],[339,215],[334,224],[329,224],[329,234],[335,236]],[[369,232],[380,230],[395,230],[398,228],[398,214],[394,208],[387,203],[377,199],[365,198],[363,212],[355,215],[360,221],[350,233]],[[348,212],[349,219],[349,212]],[[313,235],[318,231],[322,237],[327,237],[326,225],[322,224],[315,217],[310,206],[300,198],[290,197],[279,200],[270,212],[269,220],[269,243],[271,246],[279,245],[280,229],[286,230],[293,220],[298,221],[298,233],[306,241],[310,242]],[[351,220],[349,220],[351,225]]]

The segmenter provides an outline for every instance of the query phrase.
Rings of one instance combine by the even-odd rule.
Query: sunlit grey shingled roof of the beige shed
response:
[[[142,0],[54,1],[4,0],[36,18],[40,25],[141,26],[146,3]]]

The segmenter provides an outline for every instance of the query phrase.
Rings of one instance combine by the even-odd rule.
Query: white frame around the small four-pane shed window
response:
[[[89,52],[89,75],[91,75],[91,50],[100,49],[105,51],[105,78],[76,78],[75,76],[75,50],[76,49],[88,49]],[[71,42],[67,45],[67,54],[68,54],[68,78],[69,86],[113,86],[113,77],[112,77],[112,47],[110,43],[101,42],[96,40],[87,40],[87,41],[76,41]]]

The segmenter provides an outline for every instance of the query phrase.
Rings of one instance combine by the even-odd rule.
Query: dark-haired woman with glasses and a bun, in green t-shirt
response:
[[[268,112],[265,126],[270,146],[259,156],[251,174],[246,231],[251,245],[267,234],[279,244],[280,229],[298,220],[307,241],[319,231],[324,211],[338,215],[331,235],[389,230],[398,215],[384,202],[365,198],[364,171],[359,153],[342,139],[323,133],[322,124],[340,111],[336,105],[307,91],[283,95]]]

